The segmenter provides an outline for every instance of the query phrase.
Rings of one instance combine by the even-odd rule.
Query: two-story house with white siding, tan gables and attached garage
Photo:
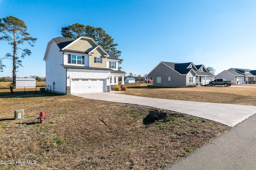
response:
[[[110,92],[125,72],[120,61],[91,37],[56,37],[46,48],[46,90],[62,94]]]

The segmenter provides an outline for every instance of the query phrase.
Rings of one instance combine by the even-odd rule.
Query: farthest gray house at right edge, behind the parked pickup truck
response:
[[[248,84],[256,82],[256,70],[230,68],[220,72],[216,77],[234,81],[235,84]]]

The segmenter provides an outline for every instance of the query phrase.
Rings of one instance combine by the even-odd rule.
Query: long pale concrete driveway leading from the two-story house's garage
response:
[[[108,93],[86,93],[73,94],[82,98],[118,102],[125,104],[136,104],[161,109],[176,111],[204,119],[213,120],[233,127],[256,113],[256,106],[215,104],[205,102],[188,102],[180,100],[167,100],[156,98],[145,98],[120,94],[116,91]]]

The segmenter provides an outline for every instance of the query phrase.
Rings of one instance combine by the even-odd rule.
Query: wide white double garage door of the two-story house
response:
[[[106,92],[106,79],[81,79],[72,78],[72,94]]]

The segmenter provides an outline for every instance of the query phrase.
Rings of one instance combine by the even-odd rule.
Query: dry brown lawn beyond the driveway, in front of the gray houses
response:
[[[254,85],[244,86],[255,87]],[[170,100],[256,106],[256,88],[243,88],[237,87],[237,85],[194,88],[128,88],[124,94]]]

